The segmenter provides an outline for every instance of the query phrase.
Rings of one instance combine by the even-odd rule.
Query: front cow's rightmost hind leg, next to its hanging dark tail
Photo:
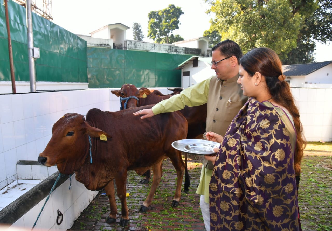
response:
[[[173,151],[174,152],[174,151]],[[176,151],[178,152],[178,151]],[[173,197],[173,203],[172,207],[177,207],[180,202],[181,198],[181,187],[182,187],[182,178],[183,178],[183,173],[185,170],[185,163],[182,160],[181,153],[177,153],[176,155],[169,155],[169,158],[172,161],[172,164],[176,170],[176,174],[178,176],[178,181],[176,183],[176,190],[175,194]]]

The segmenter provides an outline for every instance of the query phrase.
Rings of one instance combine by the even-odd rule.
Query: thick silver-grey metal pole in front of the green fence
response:
[[[27,9],[27,27],[28,27],[28,58],[29,58],[29,75],[30,75],[30,91],[36,92],[36,72],[34,58],[34,35],[32,30],[32,10],[31,0],[26,1]]]

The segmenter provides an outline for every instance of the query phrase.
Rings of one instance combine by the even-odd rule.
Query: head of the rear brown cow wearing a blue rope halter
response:
[[[120,97],[120,110],[136,108],[138,105],[138,98],[144,98],[151,94],[149,89],[141,88],[140,90],[137,90],[135,85],[132,84],[124,84],[120,90],[114,90],[111,92],[117,97]]]

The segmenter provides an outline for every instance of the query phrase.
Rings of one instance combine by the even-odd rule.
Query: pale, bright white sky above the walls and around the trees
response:
[[[36,0],[38,5],[38,0]],[[185,40],[202,37],[210,27],[211,15],[205,12],[209,9],[204,0],[53,0],[53,23],[64,29],[80,35],[90,35],[91,32],[109,24],[122,23],[129,27],[126,39],[131,40],[132,25],[141,25],[144,41],[153,42],[146,38],[148,13],[167,8],[169,4],[181,7],[184,12],[180,17],[179,29],[173,32]],[[42,6],[42,3],[41,3]],[[316,62],[332,60],[332,43],[316,43]]]

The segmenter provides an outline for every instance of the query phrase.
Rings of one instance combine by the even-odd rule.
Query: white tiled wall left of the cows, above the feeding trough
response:
[[[91,108],[118,111],[119,107],[111,89],[0,95],[0,189],[17,180],[19,160],[37,160],[54,122],[65,113],[86,115]]]

